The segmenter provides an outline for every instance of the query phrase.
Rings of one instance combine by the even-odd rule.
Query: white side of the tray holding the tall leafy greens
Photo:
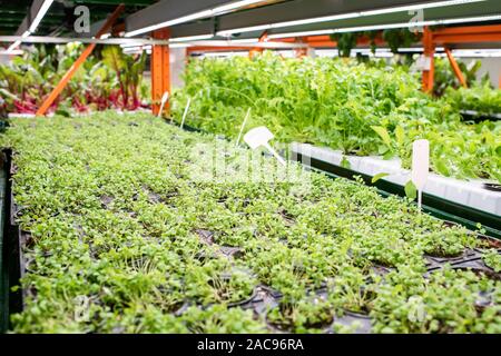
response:
[[[389,174],[382,180],[400,186],[405,186],[411,179],[411,171],[402,168],[400,159],[385,160],[377,156],[344,156],[340,150],[297,142],[292,144],[291,148],[293,152],[303,154],[336,166],[341,166],[343,157],[346,157],[350,161],[350,169],[369,176]],[[501,192],[485,189],[484,182],[480,179],[459,180],[430,174],[423,191],[501,217]]]

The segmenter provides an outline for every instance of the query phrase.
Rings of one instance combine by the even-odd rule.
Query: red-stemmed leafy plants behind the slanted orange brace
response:
[[[84,46],[32,46],[23,56],[0,65],[0,98],[8,112],[35,113],[80,56]],[[146,107],[141,89],[146,53],[125,55],[120,47],[100,47],[76,72],[51,111],[69,115]]]

